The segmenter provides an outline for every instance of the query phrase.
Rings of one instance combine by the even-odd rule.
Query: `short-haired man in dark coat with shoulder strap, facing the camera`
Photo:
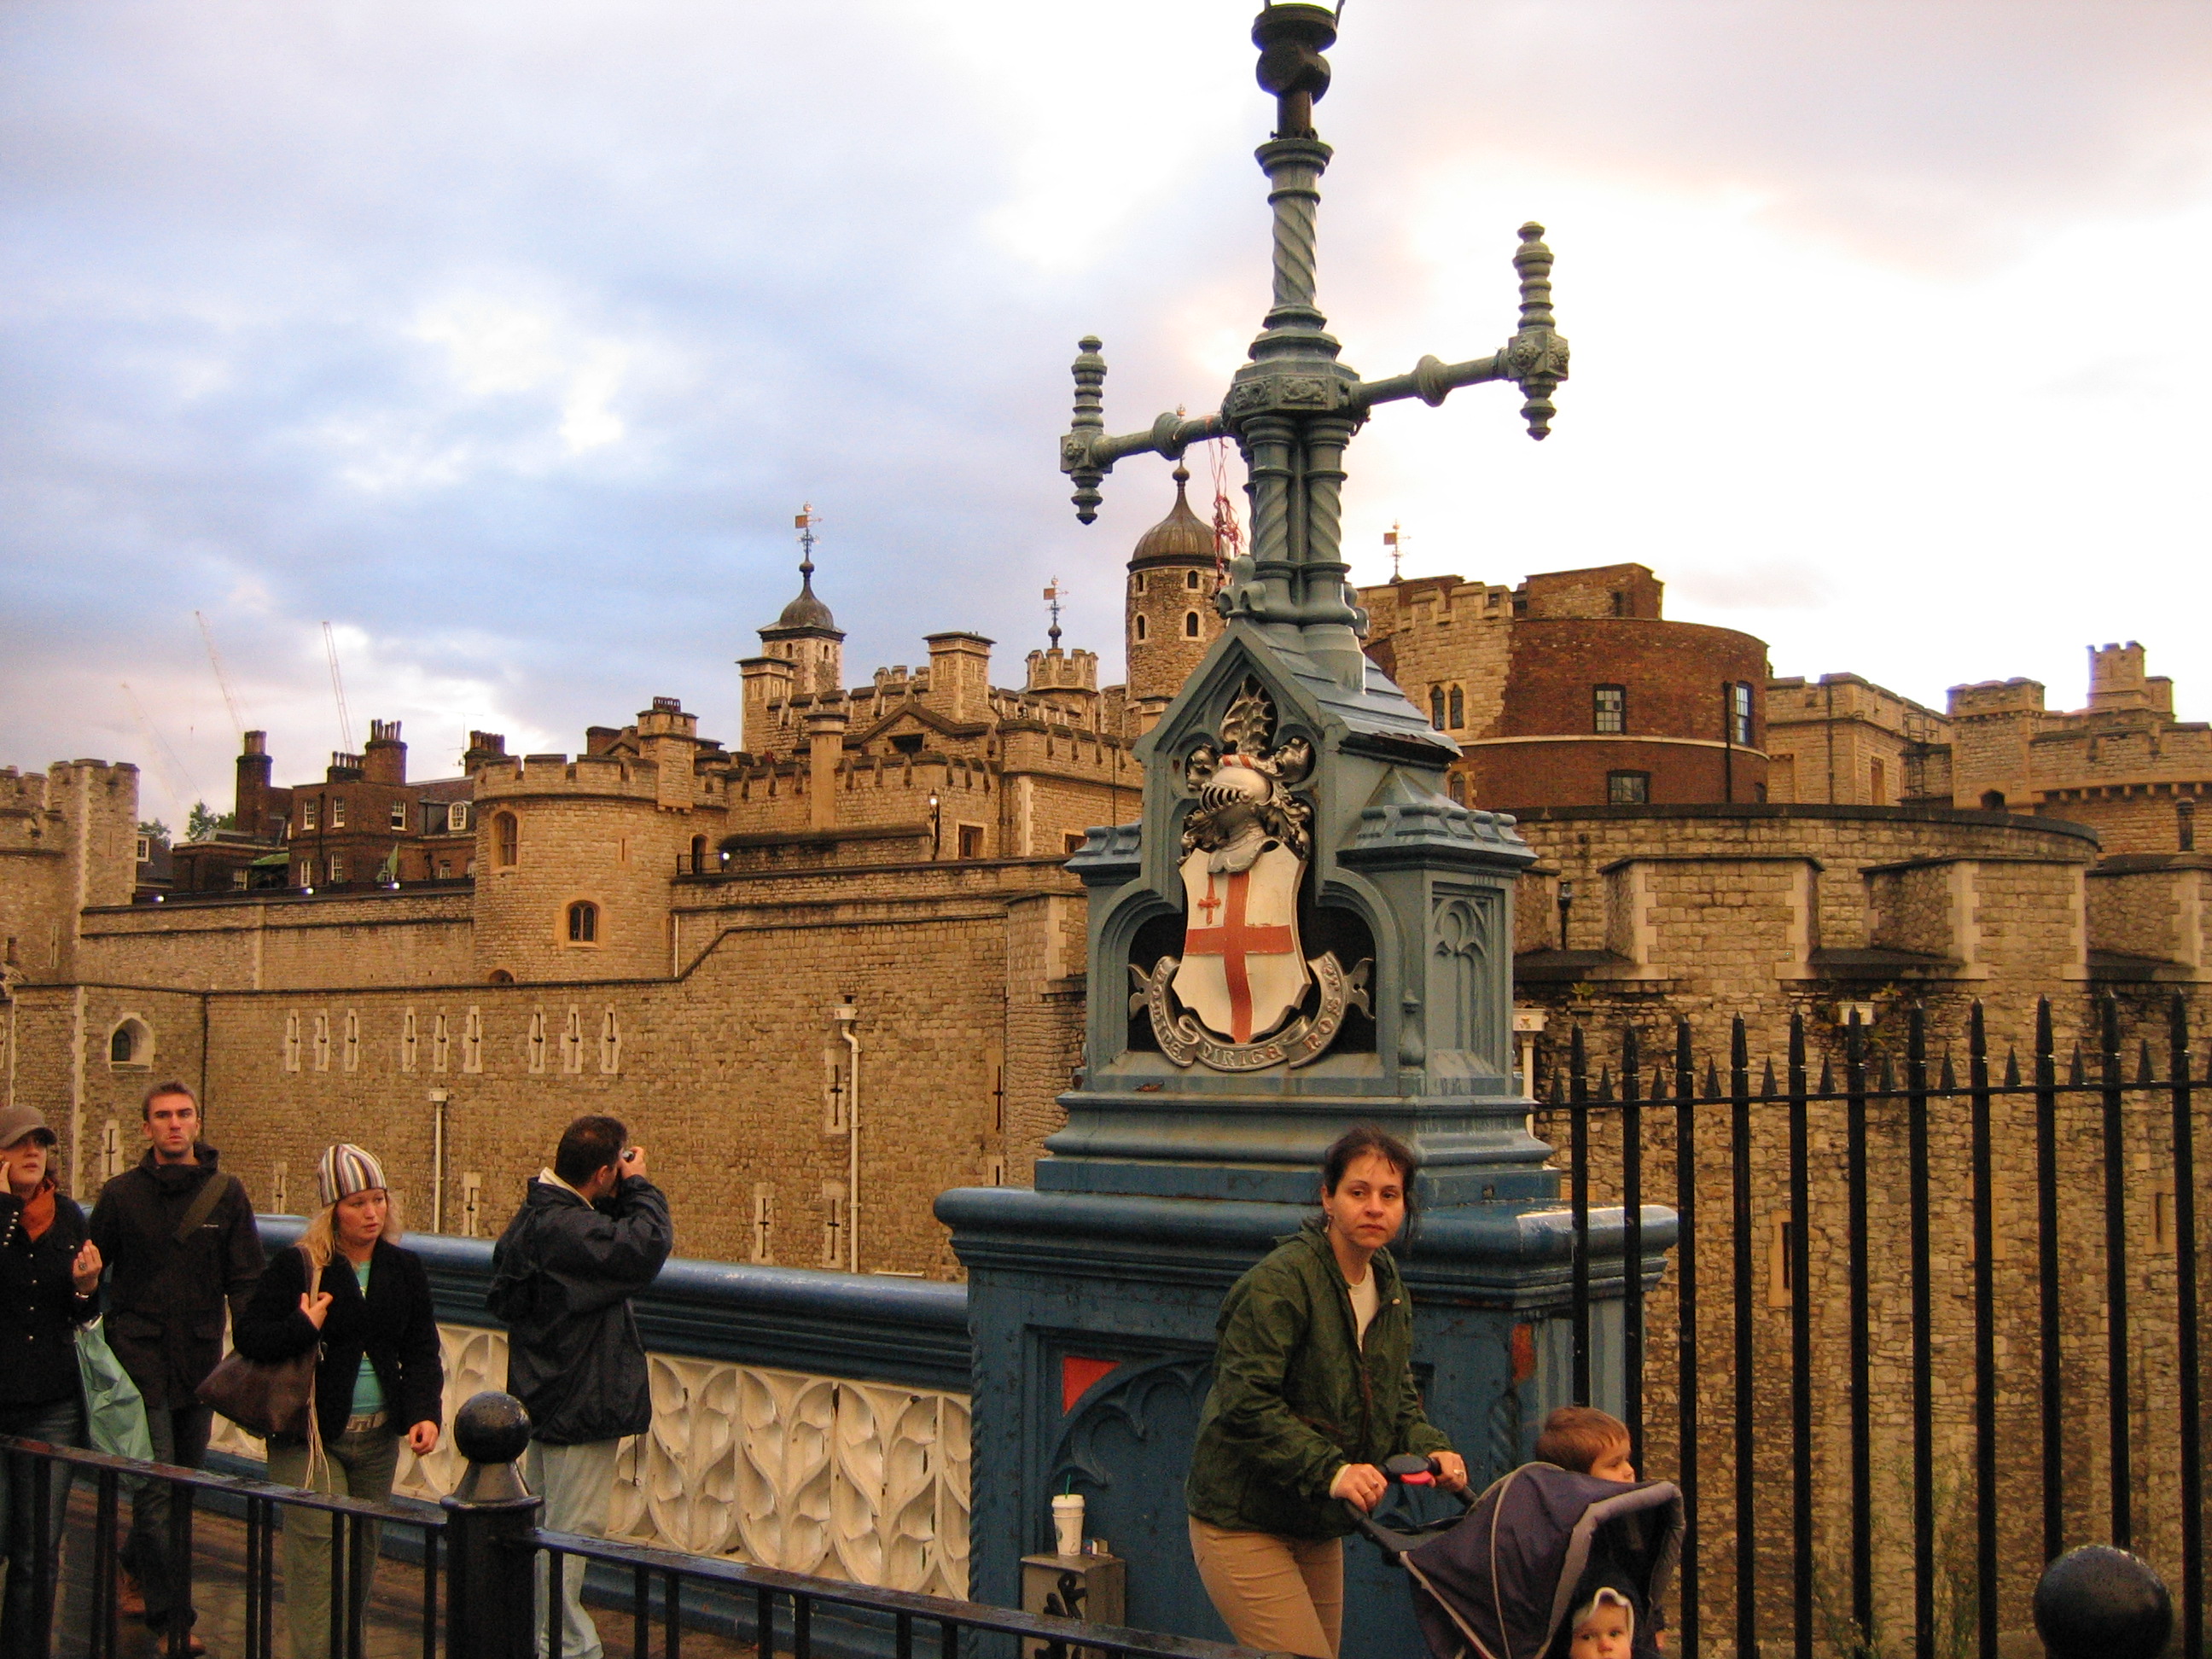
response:
[[[192,1394],[223,1358],[223,1303],[243,1314],[261,1279],[254,1206],[234,1175],[199,1144],[199,1099],[157,1084],[139,1106],[144,1161],[93,1206],[93,1243],[108,1265],[108,1345],[146,1396],[155,1462],[197,1469],[212,1413]],[[157,1480],[131,1500],[124,1571],[139,1584],[153,1630],[192,1628],[186,1562],[168,1559],[170,1489]],[[201,1652],[199,1637],[186,1652]]]

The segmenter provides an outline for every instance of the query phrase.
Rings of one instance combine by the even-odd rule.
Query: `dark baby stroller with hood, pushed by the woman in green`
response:
[[[1391,1458],[1391,1480],[1429,1484],[1427,1458]],[[1464,1515],[1394,1528],[1354,1522],[1413,1582],[1413,1617],[1436,1659],[1564,1659],[1568,1619],[1599,1586],[1626,1590],[1635,1659],[1659,1659],[1659,1606],[1681,1557],[1681,1491],[1670,1480],[1577,1475],[1528,1462]]]

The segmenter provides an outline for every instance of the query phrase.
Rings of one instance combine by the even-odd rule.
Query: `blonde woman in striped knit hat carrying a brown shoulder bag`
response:
[[[385,1168],[358,1146],[316,1159],[323,1210],[296,1250],[279,1252],[232,1340],[250,1360],[288,1360],[321,1345],[314,1436],[270,1440],[270,1480],[341,1498],[392,1495],[400,1440],[418,1458],[438,1444],[445,1363],[422,1259],[400,1250]],[[367,1542],[374,1571],[376,1537]],[[330,1515],[285,1509],[285,1610],[294,1659],[330,1652]],[[361,1586],[367,1595],[367,1584]]]

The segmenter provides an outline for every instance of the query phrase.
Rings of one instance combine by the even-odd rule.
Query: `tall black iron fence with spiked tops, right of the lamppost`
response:
[[[1688,1022],[1657,1053],[1635,1026],[1555,1051],[1577,1400],[1593,1201],[1621,1203],[1630,1259],[1646,1197],[1679,1214],[1659,1287],[1626,1274],[1619,1398],[1639,1469],[1690,1511],[1681,1659],[1997,1659],[2086,1540],[2166,1566],[2181,1652],[2203,1655],[2212,1091],[2185,1002],[2154,1020],[2124,1042],[2104,998],[2062,1057],[2042,1002],[2026,1068],[1982,1004],[1949,1037],[1918,1006],[1854,1018],[1818,1060],[1794,1015],[1781,1075],[1754,1073],[1739,1018],[1725,1082]]]

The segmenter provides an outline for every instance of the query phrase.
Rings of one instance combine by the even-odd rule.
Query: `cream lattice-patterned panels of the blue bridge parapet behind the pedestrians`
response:
[[[440,1325],[445,1418],[507,1383],[504,1332]],[[646,1356],[653,1429],[622,1444],[606,1533],[790,1573],[967,1597],[969,1402],[898,1383]],[[217,1418],[215,1447],[263,1458]],[[451,1438],[400,1449],[394,1491],[436,1502],[460,1484]]]

